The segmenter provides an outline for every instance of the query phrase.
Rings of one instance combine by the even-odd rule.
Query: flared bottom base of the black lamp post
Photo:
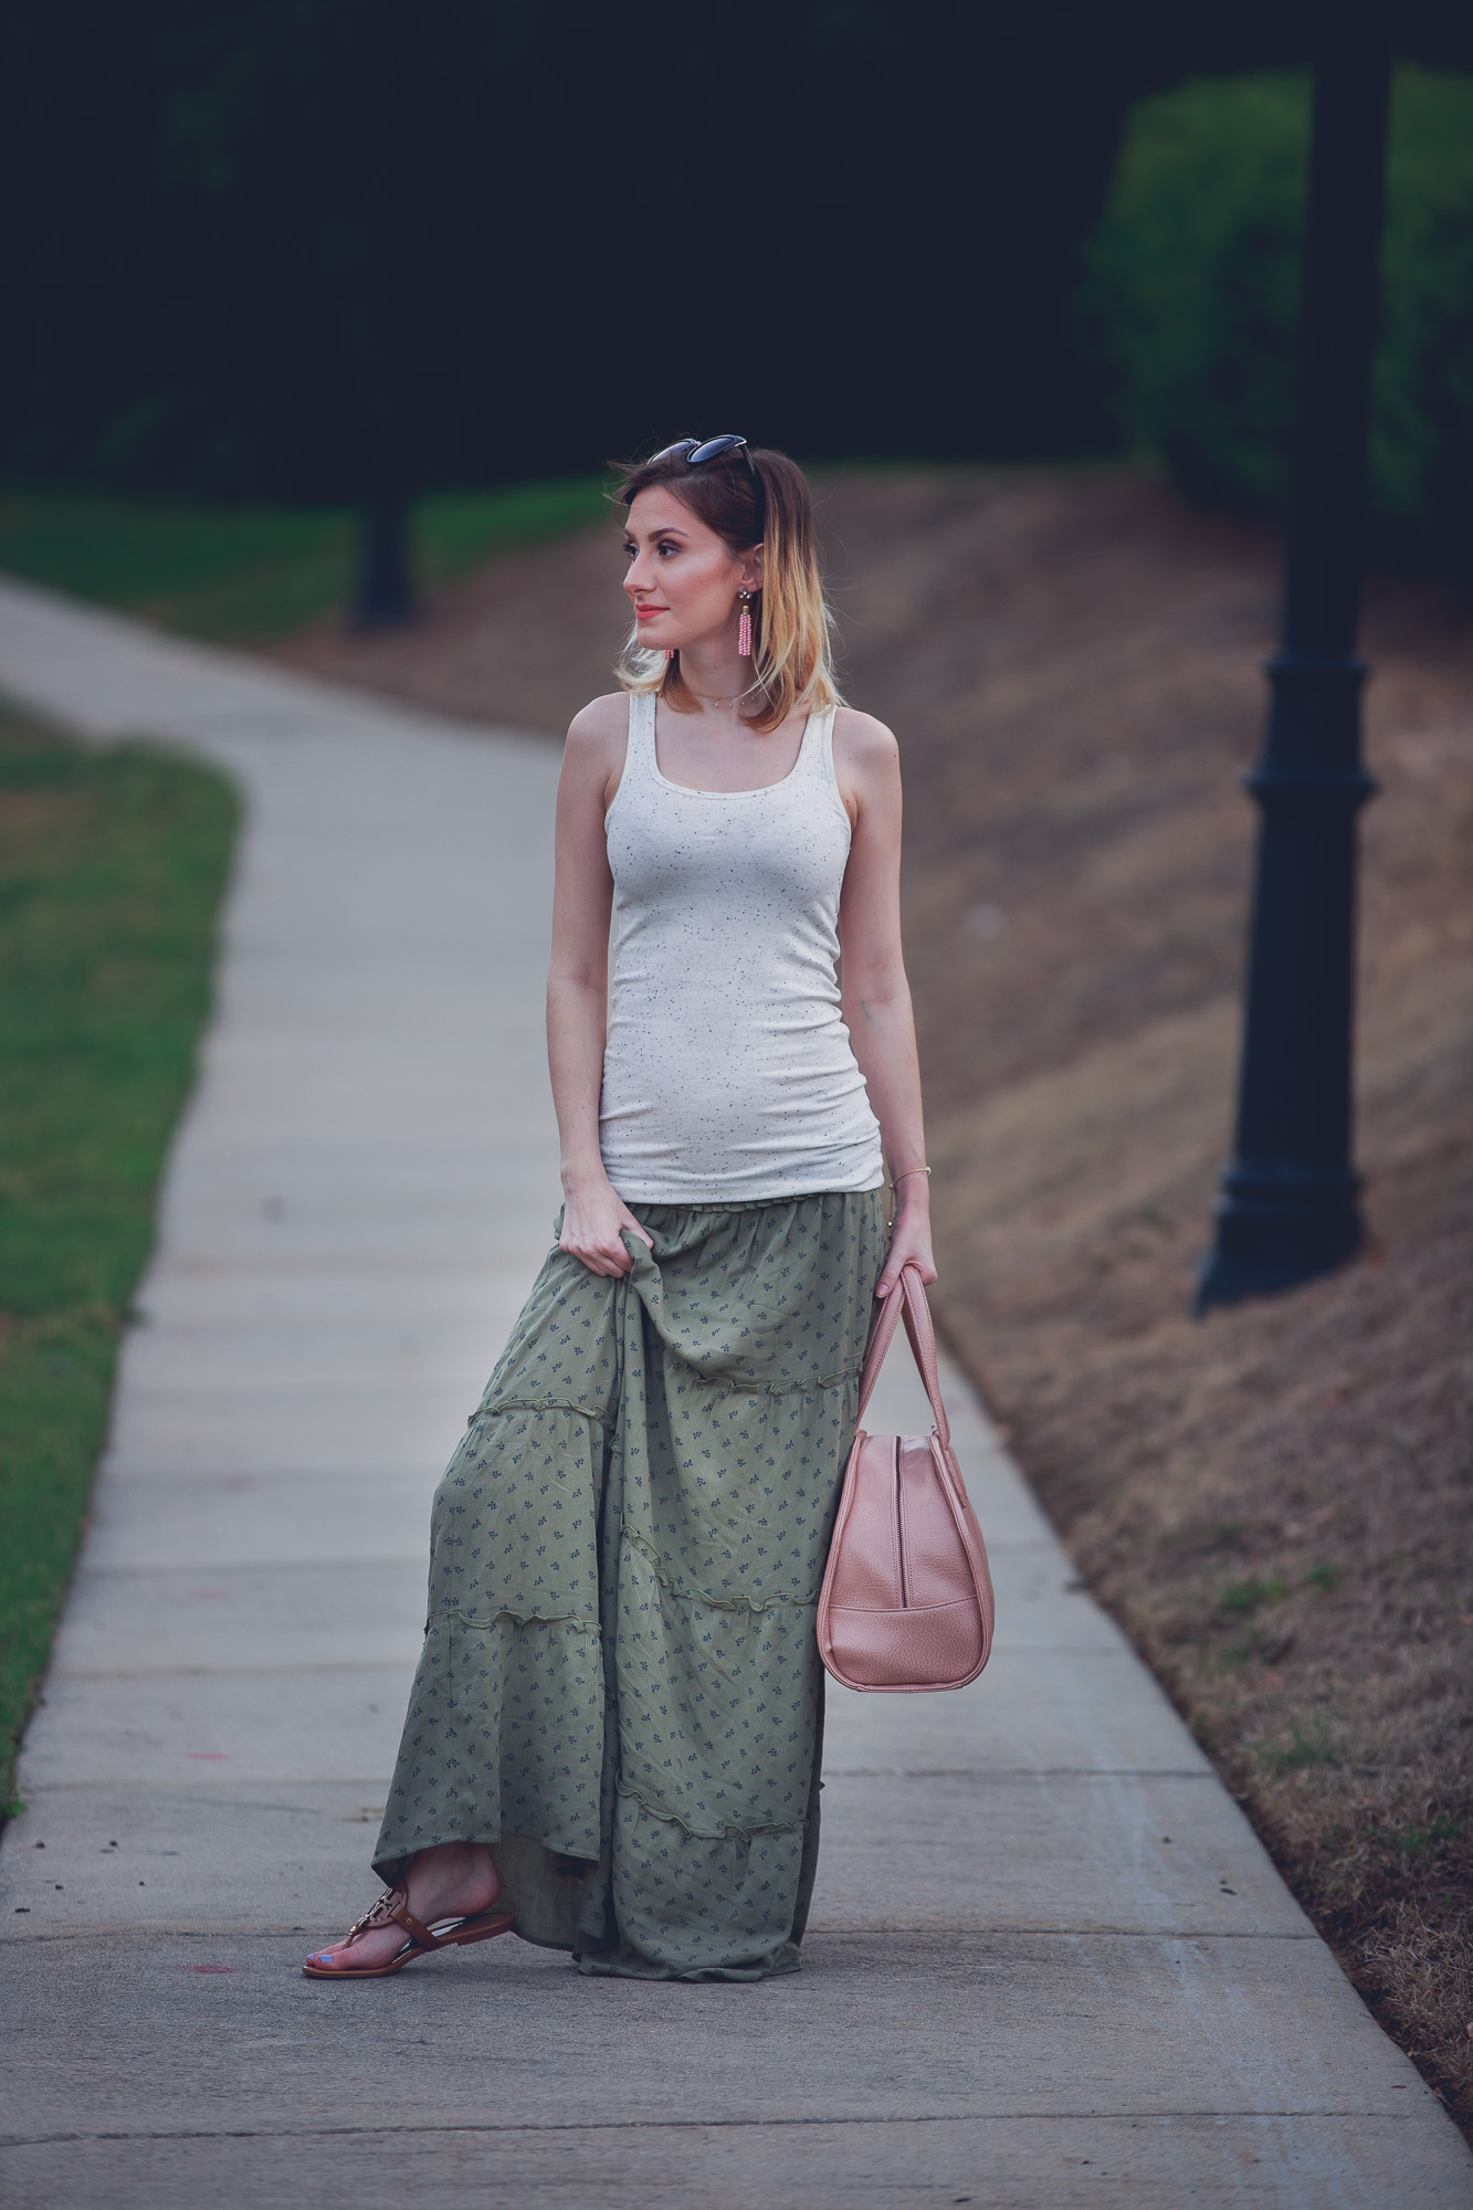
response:
[[[1232,1165],[1192,1311],[1276,1297],[1334,1273],[1365,1240],[1360,1176]]]

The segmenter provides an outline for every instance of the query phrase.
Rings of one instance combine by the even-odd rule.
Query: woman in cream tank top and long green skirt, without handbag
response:
[[[874,1297],[936,1280],[900,767],[838,703],[794,462],[688,438],[621,497],[624,690],[557,796],[557,1249],[436,1494],[389,1892],[314,1978],[506,1929],[798,1965],[856,1377]]]

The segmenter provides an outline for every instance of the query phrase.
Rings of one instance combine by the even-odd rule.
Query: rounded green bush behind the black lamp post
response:
[[[1121,429],[1199,499],[1281,511],[1309,146],[1296,71],[1141,102],[1084,320]],[[1473,557],[1473,75],[1402,66],[1371,429],[1382,541]]]

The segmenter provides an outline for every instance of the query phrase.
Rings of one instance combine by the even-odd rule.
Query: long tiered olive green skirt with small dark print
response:
[[[796,1971],[818,1859],[814,1633],[882,1196],[633,1207],[553,1249],[436,1492],[429,1624],[374,1867],[484,1841],[582,1971]]]

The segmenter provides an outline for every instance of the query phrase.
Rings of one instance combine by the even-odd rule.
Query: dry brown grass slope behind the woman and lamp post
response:
[[[1276,552],[1119,473],[836,477],[849,696],[907,762],[907,950],[960,1355],[1347,1969],[1473,2119],[1473,621],[1376,586],[1371,1246],[1188,1317],[1230,1138]],[[292,656],[557,729],[613,544]]]

